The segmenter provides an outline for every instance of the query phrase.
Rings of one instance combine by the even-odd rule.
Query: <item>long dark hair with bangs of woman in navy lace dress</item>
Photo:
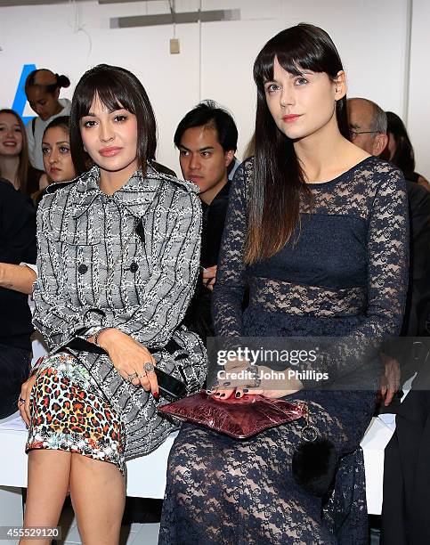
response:
[[[283,69],[297,76],[308,69],[335,80],[343,70],[327,32],[304,23],[272,37],[256,58],[256,148],[247,205],[247,264],[273,256],[286,244],[299,222],[301,195],[310,197],[293,141],[280,132],[267,107],[264,83],[273,79],[275,57]],[[336,116],[340,133],[349,140],[346,97],[337,101]]]

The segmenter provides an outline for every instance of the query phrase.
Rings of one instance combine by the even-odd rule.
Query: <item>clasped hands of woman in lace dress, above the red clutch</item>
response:
[[[245,378],[237,378],[240,372]],[[296,378],[288,378],[288,369],[274,371],[264,365],[252,366],[248,362],[233,362],[225,370],[225,378],[220,380],[211,395],[216,401],[225,401],[234,393],[236,398],[247,395],[264,395],[278,398],[296,394],[303,384]]]

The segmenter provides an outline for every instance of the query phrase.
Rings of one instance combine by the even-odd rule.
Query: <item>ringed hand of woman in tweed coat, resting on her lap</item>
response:
[[[88,339],[88,340],[91,340]],[[104,329],[97,338],[97,344],[110,356],[113,366],[122,378],[134,386],[141,385],[146,392],[158,398],[158,382],[155,372],[145,370],[145,363],[156,365],[150,351],[141,343],[119,329]]]

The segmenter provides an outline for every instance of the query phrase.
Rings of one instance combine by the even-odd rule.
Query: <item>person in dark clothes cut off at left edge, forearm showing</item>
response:
[[[0,419],[16,411],[20,386],[28,378],[30,335],[33,331],[26,291],[28,275],[34,273],[21,262],[36,263],[36,211],[15,191],[12,183],[0,179]],[[24,280],[7,279],[4,268],[12,266]],[[17,289],[23,288],[23,289]]]

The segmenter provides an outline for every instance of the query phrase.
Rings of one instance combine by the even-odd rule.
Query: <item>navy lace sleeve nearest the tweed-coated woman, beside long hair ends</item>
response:
[[[242,335],[242,300],[245,290],[246,183],[252,161],[240,165],[231,183],[229,207],[216,273],[212,313],[215,335]]]

